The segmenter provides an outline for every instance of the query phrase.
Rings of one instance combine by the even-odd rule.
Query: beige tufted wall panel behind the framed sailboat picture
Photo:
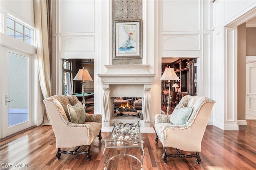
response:
[[[112,19],[120,21],[142,20],[142,0],[113,0]],[[142,64],[142,59],[113,59],[112,56],[112,64]]]

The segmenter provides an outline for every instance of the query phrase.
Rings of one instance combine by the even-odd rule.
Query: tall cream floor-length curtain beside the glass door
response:
[[[38,77],[44,99],[52,95],[51,92],[51,14],[50,0],[34,0],[34,13],[37,40]],[[50,119],[44,111],[42,125],[51,125]]]

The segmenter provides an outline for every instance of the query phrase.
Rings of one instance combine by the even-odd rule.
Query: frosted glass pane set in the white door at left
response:
[[[8,53],[8,127],[28,121],[28,57]]]

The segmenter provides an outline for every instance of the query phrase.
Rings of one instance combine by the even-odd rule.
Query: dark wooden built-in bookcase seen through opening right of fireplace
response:
[[[172,85],[177,83],[179,85],[178,92],[180,95],[196,95],[196,59],[181,58],[173,63],[162,63],[162,73],[168,66],[173,67],[177,76],[180,78],[179,81],[171,81],[171,91],[175,91]],[[162,81],[162,93],[168,89],[168,83]]]

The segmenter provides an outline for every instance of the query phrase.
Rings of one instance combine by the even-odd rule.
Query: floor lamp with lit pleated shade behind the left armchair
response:
[[[86,81],[92,81],[92,77],[90,76],[90,74],[88,73],[87,69],[84,69],[84,67],[82,69],[79,69],[78,73],[76,74],[76,77],[73,80],[78,80],[81,81],[82,83],[82,104],[84,106],[84,111],[86,109],[85,107],[85,99],[84,99],[84,83],[86,83]]]

